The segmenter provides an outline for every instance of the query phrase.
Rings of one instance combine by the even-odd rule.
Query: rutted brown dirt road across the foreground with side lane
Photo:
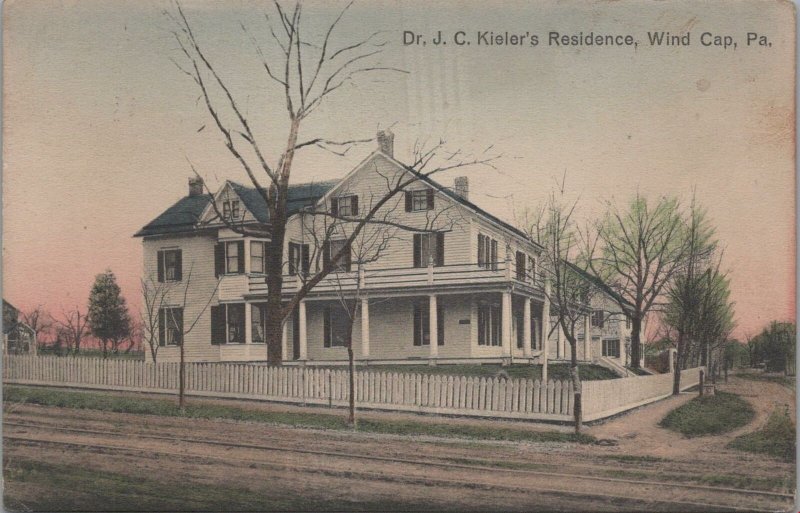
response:
[[[760,385],[773,384],[754,386]],[[787,479],[791,465],[726,450],[716,439],[686,440],[655,426],[685,400],[688,397],[669,399],[589,430],[618,441],[610,447],[423,439],[24,405],[4,417],[6,507],[17,511],[790,507],[791,499],[784,494],[791,488]]]

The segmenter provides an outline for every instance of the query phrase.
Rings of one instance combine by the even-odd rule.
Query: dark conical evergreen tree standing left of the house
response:
[[[89,294],[89,326],[92,335],[103,343],[103,358],[108,357],[109,343],[116,348],[119,341],[130,333],[128,307],[110,269],[95,277]]]

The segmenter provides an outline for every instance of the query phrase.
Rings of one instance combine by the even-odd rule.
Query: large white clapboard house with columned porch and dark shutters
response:
[[[304,273],[341,247],[335,229],[325,232],[333,235],[317,247],[330,219],[310,211],[335,210],[339,218],[356,218],[384,195],[387,177],[413,173],[394,159],[390,132],[379,133],[378,142],[378,149],[341,180],[290,187],[292,217],[283,252],[287,298],[302,284]],[[537,270],[542,248],[470,202],[466,178],[456,178],[450,187],[420,177],[380,212],[376,219],[419,231],[396,230],[379,258],[366,264],[359,265],[358,258],[340,260],[339,270],[316,285],[285,323],[284,362],[346,360],[347,316],[339,298],[356,288],[361,308],[353,329],[355,356],[370,364],[533,363],[542,359],[546,333],[549,358],[569,357],[560,330],[542,322],[550,308]],[[263,236],[242,236],[221,217]],[[227,181],[211,196],[194,178],[188,196],[136,234],[143,242],[145,278],[173,285],[159,315],[159,360],[178,357],[185,328],[178,325],[189,320],[194,324],[185,336],[189,361],[266,360],[269,232],[258,191]],[[624,364],[629,325],[619,303],[606,299],[586,316],[591,342],[581,334],[579,357]]]

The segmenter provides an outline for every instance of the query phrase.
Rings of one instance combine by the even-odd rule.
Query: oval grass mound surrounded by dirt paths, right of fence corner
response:
[[[691,438],[727,433],[746,425],[754,416],[753,408],[738,395],[717,392],[675,408],[658,425]]]

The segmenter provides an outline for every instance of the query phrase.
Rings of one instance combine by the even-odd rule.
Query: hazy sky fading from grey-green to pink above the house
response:
[[[268,159],[285,143],[286,111],[241,24],[268,56],[271,2],[181,4],[212,62],[245,106]],[[344,3],[306,2],[309,37]],[[112,269],[138,308],[141,240],[133,234],[187,193],[193,163],[214,188],[247,177],[182,74],[164,11],[150,0],[14,0],[3,18],[3,290],[19,308],[85,308]],[[464,31],[473,44],[403,45]],[[479,31],[539,35],[539,45],[485,46]],[[553,47],[548,33],[631,34],[631,47]],[[647,33],[691,34],[650,46]],[[364,138],[391,127],[395,156],[415,141],[502,154],[497,170],[460,172],[470,199],[513,222],[566,177],[579,215],[637,191],[692,195],[724,246],[736,334],[795,312],[794,20],[787,2],[354,3],[333,42],[379,32],[379,73],[329,97],[301,136]],[[728,35],[736,49],[703,46]],[[746,33],[771,46],[746,46]],[[452,41],[452,38],[450,39]],[[344,158],[308,150],[294,182],[343,176]],[[275,159],[272,159],[275,160]],[[441,177],[448,183],[451,176]]]

